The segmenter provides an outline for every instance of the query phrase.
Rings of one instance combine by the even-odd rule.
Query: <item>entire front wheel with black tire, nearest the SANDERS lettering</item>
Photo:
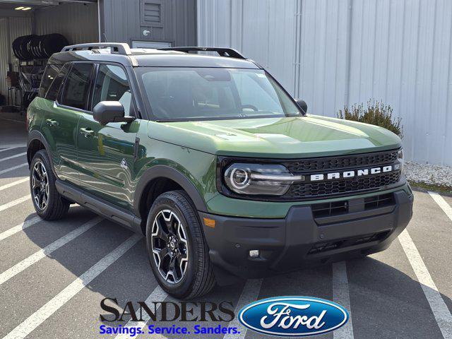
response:
[[[150,266],[169,295],[192,299],[215,285],[208,246],[191,199],[169,191],[155,199],[146,225]]]

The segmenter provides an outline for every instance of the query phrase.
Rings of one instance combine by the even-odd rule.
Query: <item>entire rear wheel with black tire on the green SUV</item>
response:
[[[55,187],[56,178],[52,172],[49,156],[39,150],[30,165],[30,191],[37,215],[44,220],[63,218],[69,210],[69,201],[61,196]]]

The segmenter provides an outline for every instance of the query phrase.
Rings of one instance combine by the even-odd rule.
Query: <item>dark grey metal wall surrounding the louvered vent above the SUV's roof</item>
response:
[[[98,0],[102,41],[164,41],[196,45],[196,0]],[[141,22],[143,2],[160,4],[162,24]],[[148,31],[148,35],[143,32]]]

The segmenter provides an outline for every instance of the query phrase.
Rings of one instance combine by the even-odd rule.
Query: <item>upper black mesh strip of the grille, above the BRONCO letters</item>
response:
[[[283,165],[285,165],[285,167],[287,167],[292,174],[303,174],[304,172],[381,165],[395,162],[397,159],[398,151],[391,150],[359,155],[318,157],[313,159],[287,161],[284,162]]]

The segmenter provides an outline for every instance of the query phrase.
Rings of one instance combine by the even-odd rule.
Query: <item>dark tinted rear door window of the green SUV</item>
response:
[[[90,90],[90,73],[93,64],[73,64],[64,83],[61,104],[85,109]]]

